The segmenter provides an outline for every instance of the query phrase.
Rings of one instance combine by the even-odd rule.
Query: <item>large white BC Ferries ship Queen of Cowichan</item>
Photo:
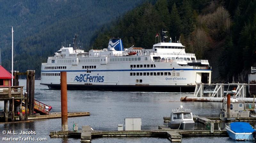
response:
[[[69,90],[194,92],[197,83],[211,83],[208,60],[197,60],[179,41],[162,40],[150,49],[124,48],[122,40],[109,40],[107,48],[85,52],[62,46],[42,63],[41,83],[60,89],[60,72],[67,72]],[[170,38],[171,39],[171,38]]]

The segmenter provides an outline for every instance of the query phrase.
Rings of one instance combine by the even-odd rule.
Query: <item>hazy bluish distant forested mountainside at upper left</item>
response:
[[[72,45],[74,34],[83,47],[89,47],[95,32],[117,21],[125,12],[145,0],[1,0],[0,48],[2,65],[11,70],[14,29],[14,70],[36,70],[60,49]],[[106,27],[106,26],[105,26]]]

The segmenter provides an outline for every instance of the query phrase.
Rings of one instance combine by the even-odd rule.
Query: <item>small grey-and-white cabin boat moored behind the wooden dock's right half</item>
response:
[[[182,105],[180,108],[172,110],[170,120],[169,127],[171,129],[194,130],[193,115],[190,109],[185,109]]]

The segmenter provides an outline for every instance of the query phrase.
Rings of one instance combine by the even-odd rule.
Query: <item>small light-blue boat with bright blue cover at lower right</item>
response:
[[[245,122],[227,123],[226,130],[229,137],[237,141],[253,140],[252,132],[255,131],[249,123]]]

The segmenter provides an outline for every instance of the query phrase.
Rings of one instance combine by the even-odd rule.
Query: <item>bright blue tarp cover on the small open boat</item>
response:
[[[255,129],[249,123],[245,122],[234,122],[230,123],[230,128],[232,131],[236,133],[244,133],[244,132],[253,132]]]

